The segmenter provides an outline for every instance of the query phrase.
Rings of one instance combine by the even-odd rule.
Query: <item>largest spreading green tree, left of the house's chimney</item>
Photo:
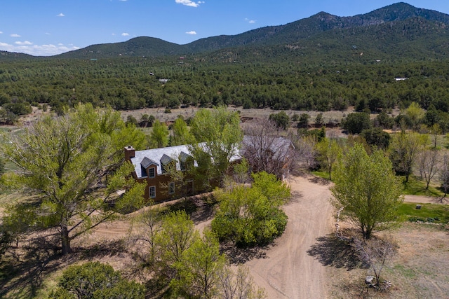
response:
[[[133,167],[123,163],[123,148],[145,137],[111,109],[78,106],[5,138],[5,156],[20,169],[6,181],[35,195],[35,202],[19,204],[10,216],[19,220],[27,213],[30,228],[58,228],[63,254],[72,251],[75,237],[142,203],[145,186],[129,176]],[[116,198],[120,189],[128,191]]]

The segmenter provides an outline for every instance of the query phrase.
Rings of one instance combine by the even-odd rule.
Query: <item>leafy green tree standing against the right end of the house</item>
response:
[[[189,151],[198,162],[192,172],[203,189],[221,183],[243,139],[239,113],[225,107],[199,110],[191,122],[190,132],[196,142]]]

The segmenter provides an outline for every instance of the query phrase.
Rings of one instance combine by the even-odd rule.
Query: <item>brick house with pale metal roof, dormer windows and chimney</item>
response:
[[[207,147],[203,146],[207,153]],[[239,153],[234,153],[230,162],[240,160]],[[125,147],[125,160],[134,166],[133,176],[139,183],[146,183],[145,199],[160,202],[172,200],[185,195],[201,192],[196,188],[194,177],[189,174],[191,167],[198,167],[198,163],[189,151],[189,146],[168,146],[144,151],[135,151],[133,146]],[[173,179],[173,170],[182,172],[181,179]]]

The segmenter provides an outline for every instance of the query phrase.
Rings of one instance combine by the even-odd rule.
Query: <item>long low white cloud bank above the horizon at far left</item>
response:
[[[0,50],[13,53],[26,53],[34,56],[51,56],[65,53],[72,50],[78,50],[76,46],[64,46],[61,43],[58,46],[49,45],[33,45],[29,41],[16,42],[15,45],[0,42]]]

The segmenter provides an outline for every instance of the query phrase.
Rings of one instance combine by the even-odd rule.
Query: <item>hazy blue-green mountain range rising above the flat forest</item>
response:
[[[349,48],[352,51],[348,52]],[[212,36],[185,45],[141,36],[121,43],[92,45],[53,57],[162,57],[209,54],[224,49],[245,55],[250,49],[248,58],[254,56],[254,51],[282,55],[286,50],[300,50],[300,55],[333,53],[331,56],[343,56],[344,59],[347,55],[341,55],[342,51],[352,56],[370,55],[373,59],[401,58],[404,55],[413,59],[438,59],[445,57],[448,48],[449,15],[400,2],[351,17],[321,12],[286,25],[262,27],[232,36]],[[222,55],[220,51],[217,53]],[[32,56],[0,51],[0,57],[29,59]]]

